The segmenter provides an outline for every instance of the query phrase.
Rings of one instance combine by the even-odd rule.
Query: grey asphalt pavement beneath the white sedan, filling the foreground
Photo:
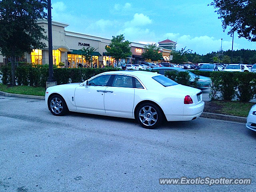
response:
[[[256,133],[198,118],[147,130],[0,96],[0,191],[255,191]],[[252,178],[251,185],[160,185],[159,178]]]

